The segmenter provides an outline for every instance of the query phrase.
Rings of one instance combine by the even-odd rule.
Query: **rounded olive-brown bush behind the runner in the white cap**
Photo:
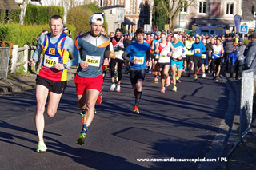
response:
[[[86,6],[70,8],[67,14],[66,22],[76,28],[75,37],[80,31],[86,33],[90,30],[90,17],[95,12],[103,12],[103,10],[95,6],[93,3],[90,3]],[[103,26],[105,26],[107,30],[106,22],[104,22]]]

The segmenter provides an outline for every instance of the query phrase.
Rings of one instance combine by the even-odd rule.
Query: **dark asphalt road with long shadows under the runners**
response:
[[[200,162],[140,162],[137,159],[204,158],[228,107],[222,79],[207,75],[194,82],[182,77],[178,92],[160,93],[153,75],[143,85],[140,114],[132,113],[134,94],[123,74],[121,93],[110,92],[110,73],[103,101],[87,133],[82,129],[74,82],[69,81],[54,118],[46,118],[46,153],[37,153],[34,127],[35,90],[0,96],[0,169],[197,169]]]

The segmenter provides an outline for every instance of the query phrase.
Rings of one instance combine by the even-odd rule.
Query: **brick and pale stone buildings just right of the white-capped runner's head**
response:
[[[135,32],[138,27],[151,24],[154,0],[94,0],[104,10],[108,22],[108,34],[117,28],[126,33]]]

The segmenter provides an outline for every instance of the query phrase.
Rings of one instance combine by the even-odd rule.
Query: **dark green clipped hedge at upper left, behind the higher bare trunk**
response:
[[[64,8],[59,6],[34,6],[28,4],[26,8],[25,24],[48,24],[52,15],[63,16]]]

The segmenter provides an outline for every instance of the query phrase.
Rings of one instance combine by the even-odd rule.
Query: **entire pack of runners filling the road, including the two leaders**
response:
[[[223,46],[220,38],[204,38],[190,36],[183,39],[181,34],[156,33],[146,34],[138,28],[127,38],[122,36],[122,30],[117,29],[114,37],[106,37],[102,14],[94,14],[90,18],[90,31],[80,35],[75,42],[63,31],[62,18],[54,15],[50,18],[51,32],[42,35],[38,40],[37,49],[30,59],[30,65],[39,60],[41,53],[42,66],[36,79],[37,109],[35,125],[38,132],[37,152],[46,152],[43,140],[45,126],[44,111],[48,98],[47,115],[54,117],[62,93],[66,89],[67,69],[78,65],[74,78],[78,107],[82,114],[82,131],[77,142],[84,144],[86,133],[94,119],[95,104],[102,102],[102,84],[110,65],[110,91],[121,92],[122,66],[126,61],[129,69],[130,82],[134,91],[134,113],[139,113],[138,105],[142,97],[142,84],[146,72],[154,74],[154,82],[161,77],[161,93],[166,92],[166,86],[173,83],[173,91],[177,91],[176,83],[181,82],[182,72],[194,71],[197,80],[202,64],[212,64],[213,75],[218,79],[220,62],[223,57]],[[185,44],[185,45],[184,45]],[[69,54],[74,59],[69,61]],[[192,55],[193,54],[193,55]],[[207,61],[208,59],[208,61]],[[129,66],[128,66],[129,65]],[[115,70],[116,73],[115,73]],[[171,78],[169,76],[171,70]],[[104,76],[103,76],[104,75]],[[118,75],[117,79],[115,75]],[[204,66],[202,77],[206,77]],[[117,84],[115,83],[117,80]]]

